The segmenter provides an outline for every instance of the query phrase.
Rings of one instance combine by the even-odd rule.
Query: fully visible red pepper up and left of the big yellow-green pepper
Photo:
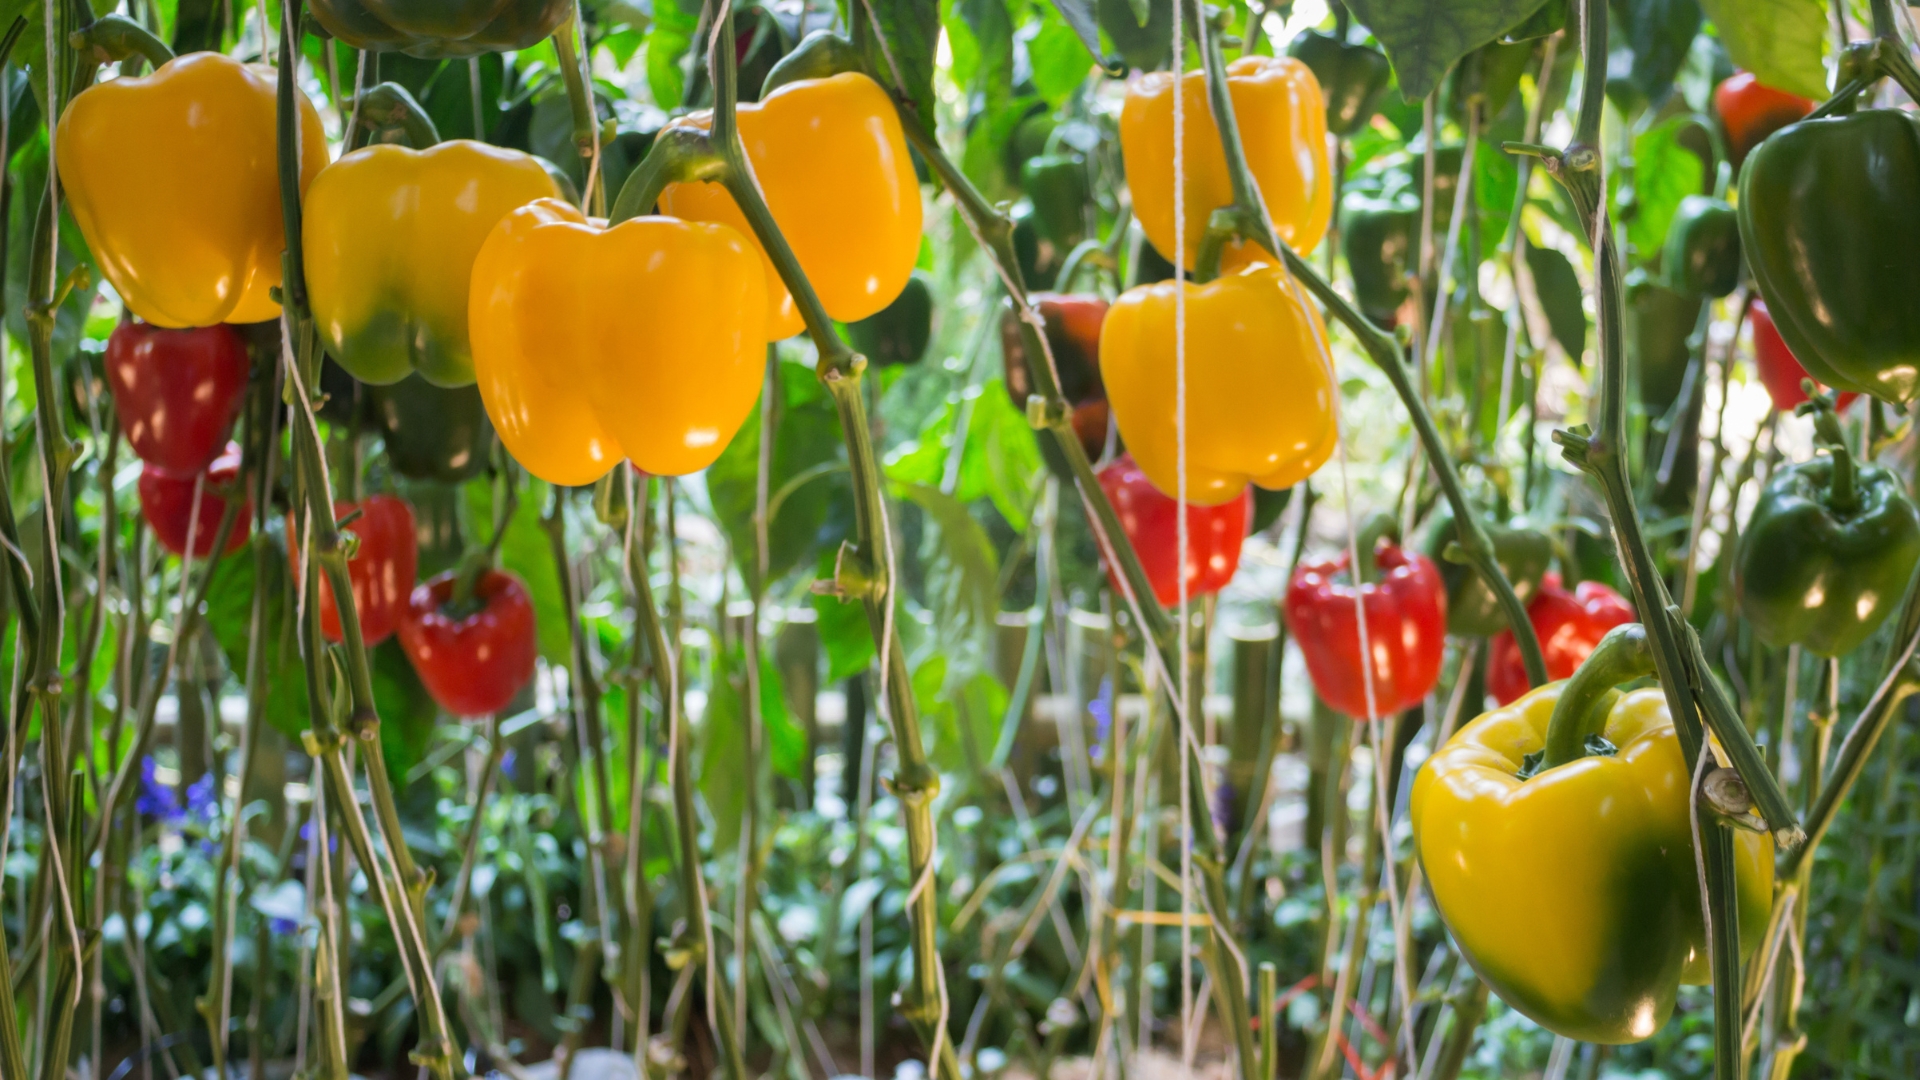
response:
[[[1379,578],[1357,586],[1373,653],[1373,715],[1417,705],[1440,682],[1446,651],[1446,578],[1419,552],[1382,542]],[[1350,717],[1367,715],[1367,676],[1354,611],[1348,557],[1302,563],[1286,586],[1286,632],[1300,644],[1321,700]]]

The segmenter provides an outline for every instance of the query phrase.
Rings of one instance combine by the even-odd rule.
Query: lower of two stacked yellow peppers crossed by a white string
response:
[[[1127,290],[1100,327],[1108,407],[1140,471],[1179,482],[1175,284]],[[1187,288],[1187,500],[1219,505],[1246,484],[1290,488],[1332,454],[1334,379],[1327,327],[1273,265]]]

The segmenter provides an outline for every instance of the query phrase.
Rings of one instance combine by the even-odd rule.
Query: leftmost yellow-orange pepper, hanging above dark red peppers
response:
[[[300,94],[300,188],[326,135]],[[278,317],[286,231],[275,158],[275,71],[192,52],[98,83],[60,117],[54,150],[86,246],[132,313],[157,327]]]

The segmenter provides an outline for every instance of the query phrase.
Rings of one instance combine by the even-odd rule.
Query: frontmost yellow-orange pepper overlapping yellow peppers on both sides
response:
[[[589,484],[630,457],[657,477],[712,465],[760,398],[766,279],[726,225],[607,229],[541,198],[493,227],[468,300],[474,375],[528,473]]]

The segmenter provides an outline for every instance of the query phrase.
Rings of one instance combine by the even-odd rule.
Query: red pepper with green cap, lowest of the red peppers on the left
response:
[[[486,717],[513,703],[534,678],[534,600],[507,571],[484,571],[470,611],[449,611],[447,571],[422,580],[399,621],[399,646],[426,692],[455,717]]]

